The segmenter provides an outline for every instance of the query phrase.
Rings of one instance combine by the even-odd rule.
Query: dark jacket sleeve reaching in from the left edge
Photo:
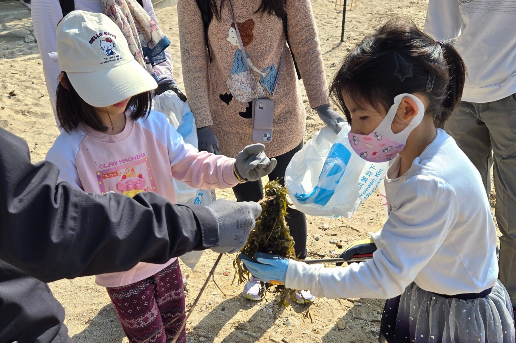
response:
[[[44,282],[165,263],[216,246],[211,211],[143,192],[133,199],[57,183],[50,162],[0,128],[0,258]]]

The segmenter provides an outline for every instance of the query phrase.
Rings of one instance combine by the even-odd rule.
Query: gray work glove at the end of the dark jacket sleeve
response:
[[[218,199],[206,206],[217,220],[219,243],[212,247],[219,254],[236,253],[244,248],[256,219],[262,213],[262,206],[255,202],[234,202]]]

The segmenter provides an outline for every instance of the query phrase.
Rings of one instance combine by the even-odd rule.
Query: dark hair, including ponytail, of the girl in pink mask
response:
[[[426,113],[443,128],[459,105],[466,67],[452,40],[434,40],[405,17],[386,22],[362,40],[343,60],[330,87],[330,96],[351,116],[343,91],[355,107],[361,103],[388,112],[396,95],[419,93],[426,97]],[[399,61],[410,66],[401,77]]]

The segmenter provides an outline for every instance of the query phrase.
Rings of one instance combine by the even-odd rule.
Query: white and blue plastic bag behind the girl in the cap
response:
[[[165,113],[170,124],[183,137],[186,143],[198,148],[197,128],[190,105],[179,99],[178,94],[166,91],[154,97],[154,110]],[[174,179],[175,198],[179,203],[207,206],[215,201],[215,190],[192,188],[184,182]],[[190,251],[180,256],[182,262],[190,269],[201,259],[203,251]]]

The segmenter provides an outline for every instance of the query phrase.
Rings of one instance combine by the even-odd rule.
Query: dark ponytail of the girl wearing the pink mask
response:
[[[442,110],[435,118],[434,123],[437,127],[443,127],[444,123],[451,116],[451,112],[459,105],[462,98],[462,91],[466,81],[466,66],[459,52],[451,44],[453,40],[448,40],[442,43],[443,54],[446,60],[449,80],[446,86]]]

